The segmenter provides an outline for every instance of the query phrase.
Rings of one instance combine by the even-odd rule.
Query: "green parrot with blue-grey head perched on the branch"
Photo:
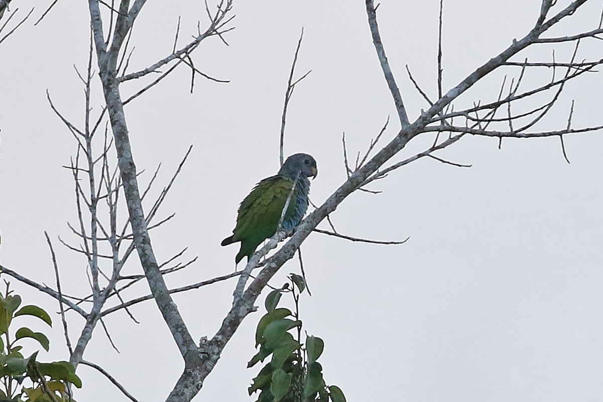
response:
[[[315,179],[317,174],[314,158],[306,153],[296,153],[286,159],[279,173],[256,184],[239,206],[233,235],[225,238],[221,243],[222,246],[227,246],[237,241],[241,242],[235,264],[238,264],[245,255],[249,261],[257,246],[267,238],[273,237],[291,191],[291,199],[281,229],[289,231],[301,222],[308,209],[310,191],[308,177]],[[292,190],[294,183],[295,188]]]

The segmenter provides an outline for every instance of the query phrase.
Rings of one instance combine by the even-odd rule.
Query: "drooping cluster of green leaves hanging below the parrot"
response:
[[[306,335],[301,343],[301,321],[298,319],[299,295],[306,289],[302,276],[289,276],[292,286],[285,284],[267,296],[267,313],[256,329],[256,347],[260,349],[247,363],[253,367],[271,356],[264,368],[253,378],[249,395],[260,391],[256,402],[346,402],[338,386],[327,386],[323,378],[323,366],[317,362],[323,353],[324,341]],[[291,293],[295,301],[295,313],[288,308],[277,308],[283,293]],[[288,318],[288,317],[292,317]],[[297,330],[292,334],[291,330]]]

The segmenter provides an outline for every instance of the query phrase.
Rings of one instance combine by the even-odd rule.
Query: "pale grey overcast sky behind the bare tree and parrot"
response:
[[[30,4],[13,0],[11,10],[17,7],[24,16]],[[35,19],[45,7],[36,5]],[[411,120],[427,105],[405,65],[436,95],[437,7],[435,0],[383,0],[378,10]],[[590,0],[552,34],[596,28],[601,7]],[[539,10],[537,0],[446,0],[444,91],[523,37]],[[232,231],[239,202],[279,168],[280,113],[301,27],[298,74],[312,73],[289,105],[285,153],[306,152],[317,160],[312,201],[322,203],[346,179],[343,132],[355,155],[366,150],[388,115],[393,119],[384,144],[399,130],[363,1],[235,0],[234,12],[229,46],[207,40],[194,54],[197,68],[230,83],[197,77],[190,94],[191,74],[182,68],[125,109],[134,160],[146,170],[140,182],[163,164],[154,196],[194,145],[160,213],[176,215],[151,232],[160,260],[183,247],[189,247],[183,260],[200,256],[167,278],[170,287],[232,272],[237,247],[219,242]],[[185,43],[197,21],[206,22],[202,2],[147,2],[134,25],[130,71],[171,53],[178,15]],[[75,141],[52,113],[45,91],[81,126],[83,87],[73,65],[86,68],[88,18],[86,2],[61,0],[37,27],[28,21],[0,44],[0,261],[54,284],[46,230],[57,249],[63,289],[80,296],[88,292],[86,261],[57,239],[77,244],[66,225],[77,222],[74,184],[62,168],[75,155]],[[584,40],[577,59],[603,58],[597,42]],[[552,49],[541,45],[516,60],[549,62]],[[569,61],[572,51],[557,46],[555,59]],[[463,95],[459,107],[495,100],[504,74],[517,72],[493,72]],[[528,73],[525,88],[551,77],[546,68]],[[147,82],[130,81],[122,92],[133,94]],[[537,129],[565,128],[572,99],[575,127],[603,124],[602,89],[600,74],[572,81]],[[93,91],[98,113],[98,83]],[[396,161],[433,140],[414,139]],[[499,150],[495,139],[466,136],[438,156],[471,168],[421,159],[371,184],[382,193],[358,192],[339,206],[332,220],[343,234],[410,239],[379,246],[316,233],[303,244],[313,295],[302,298],[301,318],[308,333],[325,340],[320,360],[328,384],[340,386],[350,402],[603,400],[603,138],[601,132],[571,135],[565,145],[571,164],[558,138],[507,139]],[[140,273],[135,259],[124,273]],[[282,267],[273,286],[289,272],[298,272],[296,260]],[[54,299],[11,283],[25,302],[58,310]],[[195,339],[213,336],[234,286],[222,282],[174,296]],[[147,293],[141,282],[126,296]],[[123,312],[106,319],[119,354],[98,327],[84,359],[106,368],[139,401],[165,400],[182,372],[180,356],[153,302],[132,312],[140,324]],[[258,369],[245,366],[255,353],[260,314],[245,319],[195,400],[251,400],[247,387]],[[51,335],[51,353],[41,359],[66,360],[60,321],[53,317],[52,330],[39,327]],[[71,319],[76,339],[82,321]],[[77,400],[125,400],[93,369],[80,366],[78,374],[84,388]]]

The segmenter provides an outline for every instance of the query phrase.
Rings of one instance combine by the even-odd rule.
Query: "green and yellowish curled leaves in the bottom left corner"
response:
[[[38,351],[25,357],[22,339],[33,339],[45,351],[49,349],[48,337],[28,327],[14,331],[11,324],[16,317],[30,316],[52,326],[48,313],[36,305],[21,306],[21,296],[14,295],[6,282],[4,294],[0,293],[0,402],[58,402],[73,401],[68,395],[68,383],[81,388],[81,380],[69,362],[41,363]],[[18,309],[18,310],[17,310]],[[23,385],[30,380],[30,388]]]

